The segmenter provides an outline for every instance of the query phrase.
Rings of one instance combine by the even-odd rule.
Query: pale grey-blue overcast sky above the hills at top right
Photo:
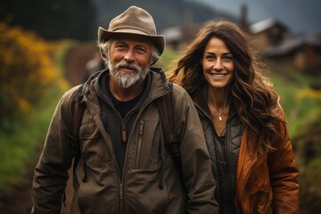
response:
[[[210,4],[216,9],[240,15],[248,5],[250,23],[274,18],[288,26],[294,35],[321,33],[321,0],[185,0]]]

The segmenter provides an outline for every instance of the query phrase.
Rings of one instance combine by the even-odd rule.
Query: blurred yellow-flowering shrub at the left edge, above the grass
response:
[[[0,128],[33,111],[58,80],[54,51],[34,33],[0,22]]]

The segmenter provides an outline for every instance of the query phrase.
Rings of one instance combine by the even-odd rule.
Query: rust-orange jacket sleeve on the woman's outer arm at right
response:
[[[278,105],[276,112],[284,119]],[[285,121],[285,119],[284,119]],[[275,136],[272,146],[276,149],[268,156],[268,169],[273,188],[273,206],[276,213],[299,212],[299,170],[296,167],[292,143],[285,122],[276,122],[280,136]]]

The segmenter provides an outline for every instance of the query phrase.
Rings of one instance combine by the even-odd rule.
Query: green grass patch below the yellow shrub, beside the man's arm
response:
[[[27,117],[14,133],[0,136],[0,192],[25,181],[26,165],[38,158],[37,148],[43,144],[57,97],[37,113]]]

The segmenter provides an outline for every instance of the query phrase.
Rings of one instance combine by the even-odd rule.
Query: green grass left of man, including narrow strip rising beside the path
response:
[[[63,41],[58,44],[60,46],[55,60],[59,72],[63,71],[64,53],[73,44],[72,41]],[[11,193],[15,186],[26,182],[26,173],[29,172],[30,167],[35,167],[55,105],[63,94],[64,88],[58,85],[58,82],[53,83],[53,86],[47,88],[44,92],[45,99],[40,106],[36,107],[36,110],[25,115],[21,121],[13,121],[11,132],[1,133],[0,196]]]

